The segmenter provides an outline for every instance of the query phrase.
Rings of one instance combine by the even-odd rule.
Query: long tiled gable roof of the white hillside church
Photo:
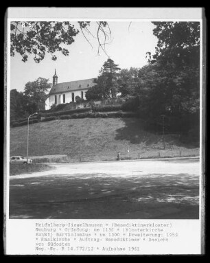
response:
[[[58,83],[51,88],[51,91],[49,91],[49,95],[68,91],[80,91],[82,89],[89,89],[90,87],[93,87],[95,85],[93,80],[95,80],[95,78]]]

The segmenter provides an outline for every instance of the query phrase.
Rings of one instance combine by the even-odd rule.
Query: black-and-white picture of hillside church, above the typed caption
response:
[[[202,24],[10,21],[10,220],[199,220]]]

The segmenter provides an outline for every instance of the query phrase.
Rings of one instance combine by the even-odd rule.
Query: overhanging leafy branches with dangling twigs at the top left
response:
[[[23,62],[27,61],[29,55],[33,55],[34,61],[38,63],[49,53],[51,59],[56,60],[56,52],[61,52],[65,56],[69,55],[69,50],[65,49],[63,45],[71,45],[75,41],[75,36],[80,32],[90,45],[88,36],[91,35],[93,38],[97,38],[98,53],[100,49],[106,53],[105,45],[110,36],[108,23],[104,21],[96,23],[97,33],[94,36],[90,30],[91,22],[89,21],[79,21],[76,23],[78,28],[75,28],[68,21],[12,21],[10,24],[10,55],[14,56],[15,53],[19,53]],[[108,33],[106,28],[108,28]]]

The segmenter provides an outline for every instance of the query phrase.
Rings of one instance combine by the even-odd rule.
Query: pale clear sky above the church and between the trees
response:
[[[73,22],[74,24],[75,22]],[[141,68],[147,64],[146,52],[154,54],[157,38],[152,34],[154,25],[151,22],[108,22],[111,31],[110,43],[106,45],[106,53],[121,69]],[[96,34],[96,23],[91,22],[91,32]],[[59,52],[56,61],[47,54],[44,60],[36,63],[32,56],[27,62],[21,60],[19,54],[10,57],[10,89],[24,91],[25,84],[37,78],[47,78],[52,82],[56,69],[58,83],[86,78],[97,78],[99,71],[108,56],[100,50],[97,54],[97,40],[87,36],[91,45],[82,33],[75,36],[75,42],[65,48],[69,56]]]

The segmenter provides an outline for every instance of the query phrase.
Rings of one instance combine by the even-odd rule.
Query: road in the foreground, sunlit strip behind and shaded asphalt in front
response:
[[[199,159],[53,165],[10,176],[10,218],[198,218]]]

